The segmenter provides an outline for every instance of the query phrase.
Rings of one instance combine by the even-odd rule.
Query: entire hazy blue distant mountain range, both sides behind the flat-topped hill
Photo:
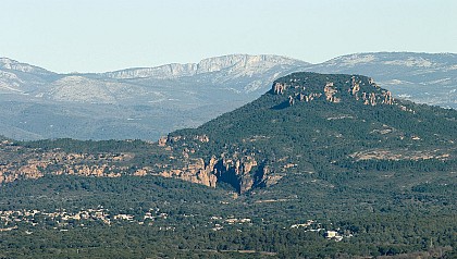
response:
[[[0,133],[15,139],[156,140],[234,110],[298,71],[363,74],[396,97],[457,108],[457,54],[450,53],[360,53],[320,64],[232,54],[88,74],[58,74],[1,58]]]

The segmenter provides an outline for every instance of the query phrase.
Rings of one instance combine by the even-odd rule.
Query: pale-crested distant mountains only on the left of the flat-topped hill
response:
[[[141,138],[197,126],[264,92],[309,63],[277,55],[225,55],[102,74],[57,74],[0,60],[0,133],[15,139]]]

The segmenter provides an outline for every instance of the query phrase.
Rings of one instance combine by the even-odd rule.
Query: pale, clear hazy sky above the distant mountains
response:
[[[0,0],[0,57],[103,72],[271,53],[457,52],[455,0]]]

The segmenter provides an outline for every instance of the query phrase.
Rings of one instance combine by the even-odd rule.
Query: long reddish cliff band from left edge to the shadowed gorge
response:
[[[198,147],[209,143],[210,138],[207,135],[162,137],[157,146],[170,151],[169,162],[135,170],[123,164],[135,157],[133,153],[70,153],[59,149],[41,152],[3,141],[0,143],[0,158],[9,162],[0,163],[0,184],[21,178],[38,178],[46,174],[95,177],[160,175],[209,187],[224,182],[238,193],[246,193],[256,186],[273,183],[274,177],[270,177],[272,171],[262,161],[258,161],[254,153],[224,152],[203,159],[196,157],[193,147],[183,147],[187,141]],[[17,157],[16,153],[25,156]]]

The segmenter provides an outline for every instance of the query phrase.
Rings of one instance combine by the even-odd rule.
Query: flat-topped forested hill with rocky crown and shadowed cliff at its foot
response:
[[[295,73],[166,144],[244,193],[292,173],[456,168],[457,112],[395,99],[359,75]],[[334,184],[334,183],[333,183]]]

